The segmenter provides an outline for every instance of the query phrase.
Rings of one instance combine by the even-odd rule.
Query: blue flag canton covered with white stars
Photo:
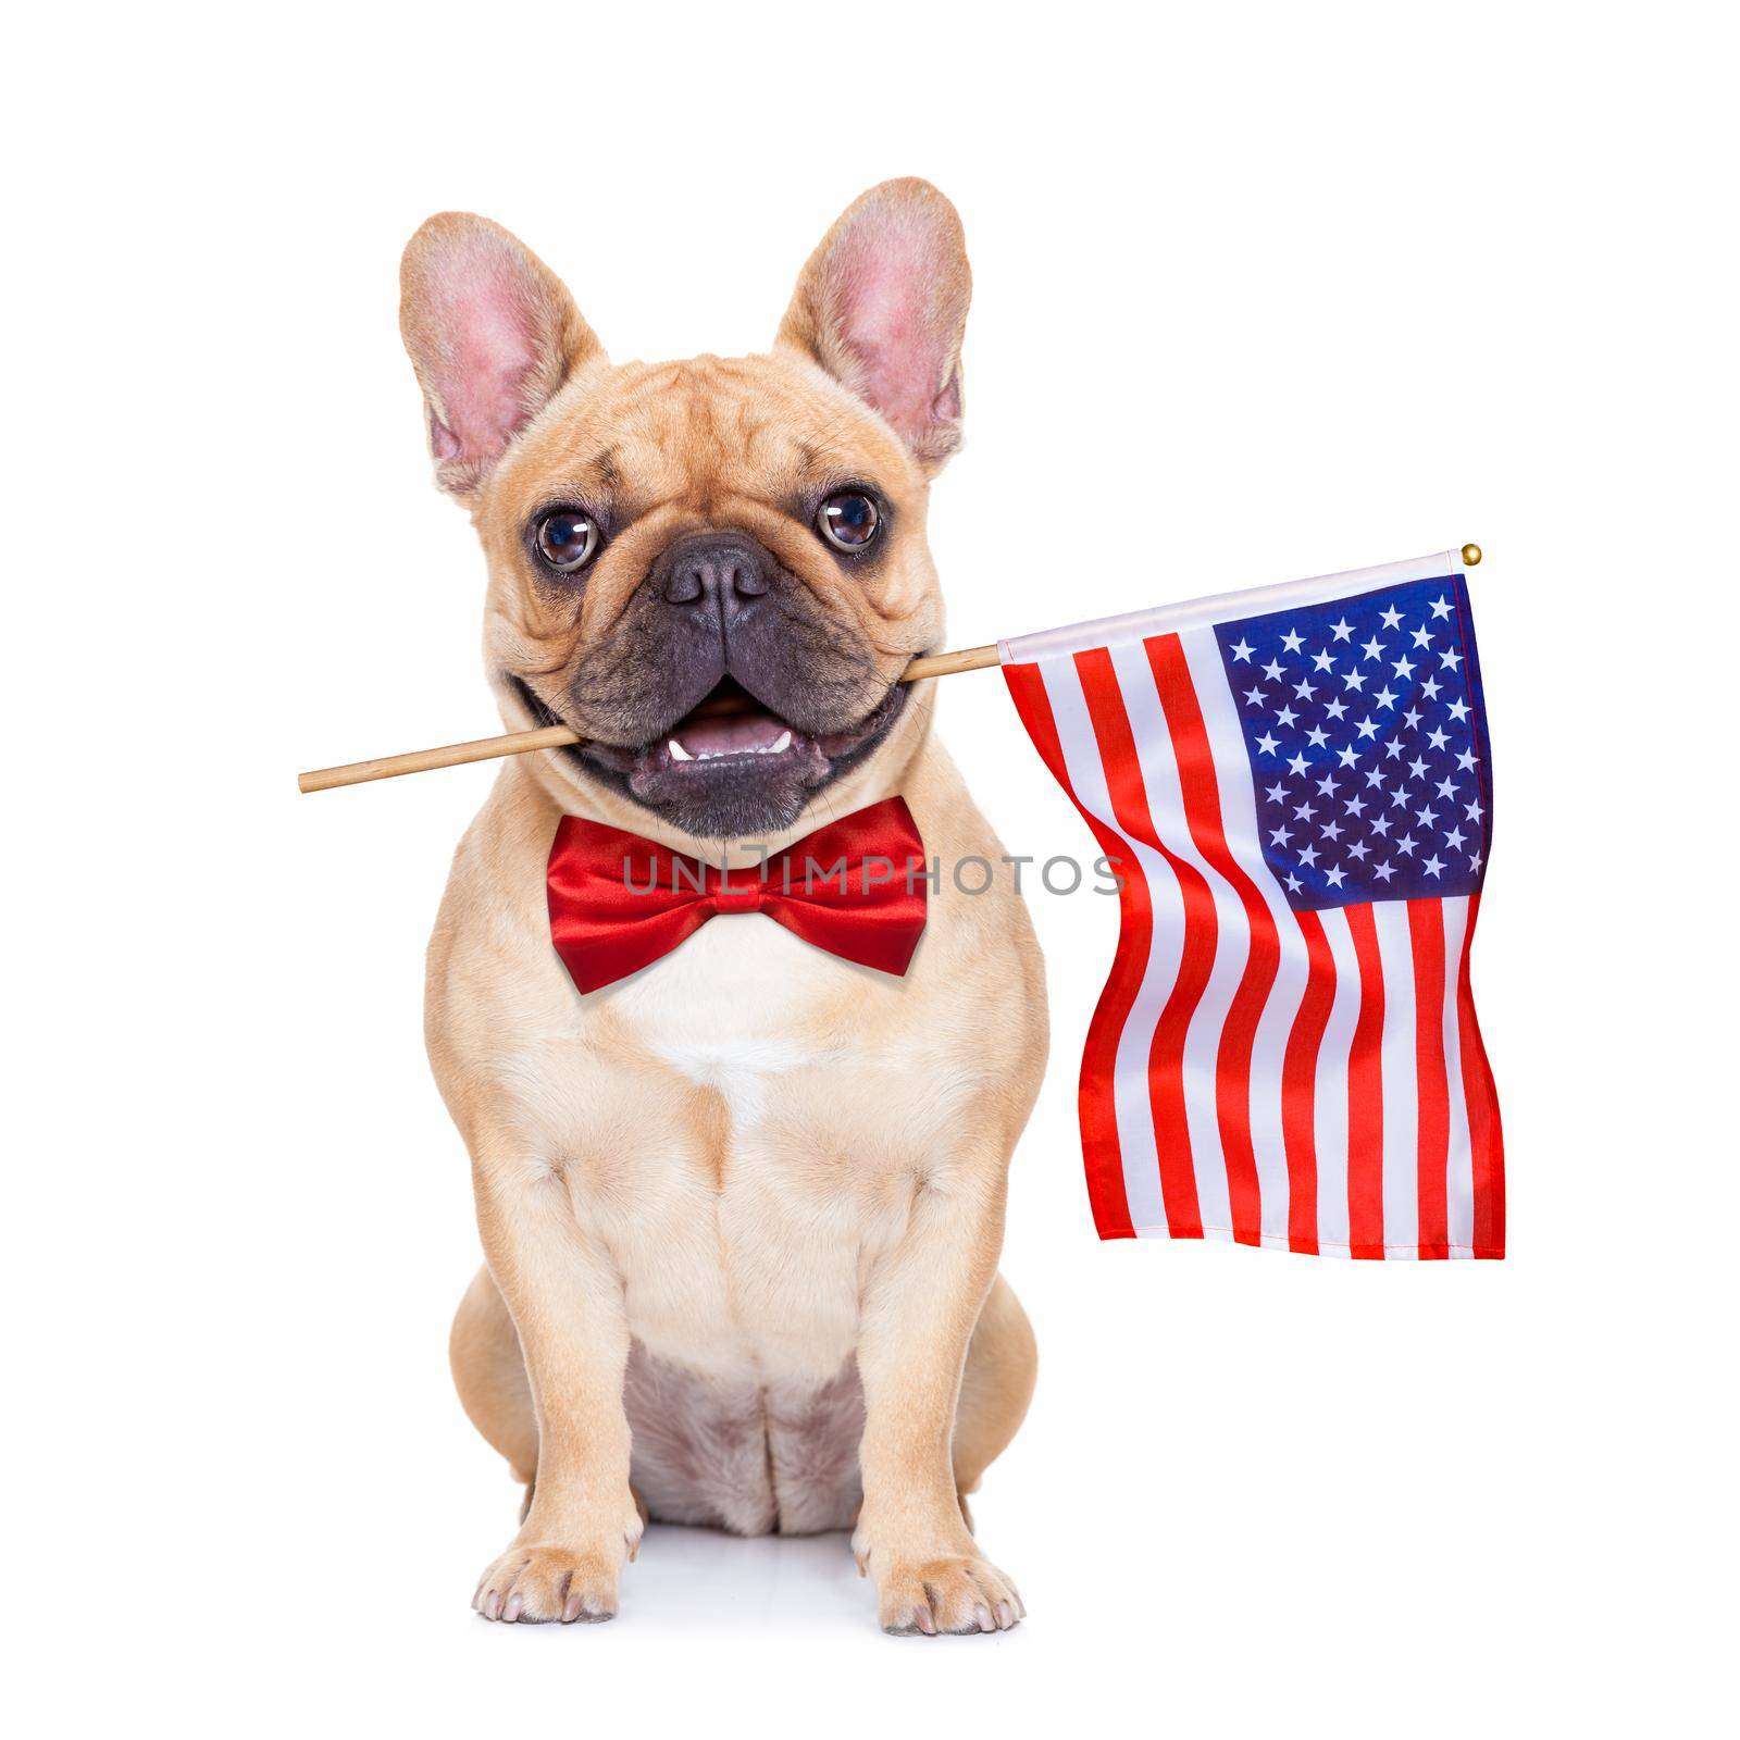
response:
[[[1215,633],[1263,858],[1296,912],[1479,889],[1493,786],[1460,574]]]

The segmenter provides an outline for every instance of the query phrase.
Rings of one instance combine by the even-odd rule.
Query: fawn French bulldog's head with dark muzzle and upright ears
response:
[[[865,193],[764,357],[616,367],[529,249],[458,212],[402,285],[512,724],[572,726],[583,780],[701,839],[778,833],[889,745],[943,623],[924,510],[971,287],[948,200]]]

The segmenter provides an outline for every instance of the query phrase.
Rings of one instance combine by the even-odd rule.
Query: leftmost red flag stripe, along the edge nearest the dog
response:
[[[1101,1239],[1133,1239],[1134,1227],[1129,1216],[1129,1199],[1124,1194],[1124,1155],[1117,1140],[1117,1101],[1114,1082],[1117,1079],[1117,1041],[1124,1032],[1131,1004],[1141,988],[1141,976],[1148,966],[1148,950],[1154,940],[1154,910],[1148,900],[1148,882],[1141,873],[1136,854],[1129,851],[1098,816],[1088,813],[1075,795],[1070,781],[1068,764],[1063,760],[1063,745],[1058,741],[1058,724],[1051,713],[1051,698],[1046,694],[1044,679],[1034,665],[1004,665],[1002,675],[1009,684],[1014,710],[1027,726],[1027,734],[1034,740],[1041,760],[1051,769],[1051,776],[1070,795],[1070,802],[1081,811],[1082,820],[1093,828],[1100,851],[1117,867],[1122,877],[1119,889],[1119,926],[1117,954],[1112,959],[1112,971],[1100,992],[1093,1021],[1088,1025],[1088,1044],[1082,1047],[1082,1072],[1077,1089],[1077,1107],[1082,1124],[1082,1159],[1088,1168],[1088,1201],[1093,1208],[1093,1221]]]

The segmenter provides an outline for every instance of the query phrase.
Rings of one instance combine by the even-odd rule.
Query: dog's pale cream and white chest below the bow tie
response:
[[[767,919],[724,917],[612,995],[642,1061],[593,1075],[609,1112],[592,1107],[571,1188],[654,1355],[816,1383],[851,1355],[934,1100],[917,1041],[853,1021],[879,992],[865,980]]]

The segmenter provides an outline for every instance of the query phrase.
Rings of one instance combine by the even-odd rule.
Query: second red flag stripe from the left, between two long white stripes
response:
[[[1201,1239],[1202,1209],[1197,1202],[1190,1124],[1185,1117],[1185,1034],[1215,966],[1215,941],[1220,934],[1215,896],[1202,872],[1169,851],[1154,828],[1148,792],[1141,781],[1141,759],[1112,654],[1105,647],[1077,652],[1075,670],[1081,673],[1082,694],[1088,696],[1088,717],[1100,745],[1100,760],[1105,764],[1112,814],[1131,839],[1152,846],[1166,860],[1178,877],[1183,898],[1183,957],[1148,1049],[1148,1101],[1154,1107],[1154,1145],[1161,1161],[1166,1223],[1174,1239]]]

